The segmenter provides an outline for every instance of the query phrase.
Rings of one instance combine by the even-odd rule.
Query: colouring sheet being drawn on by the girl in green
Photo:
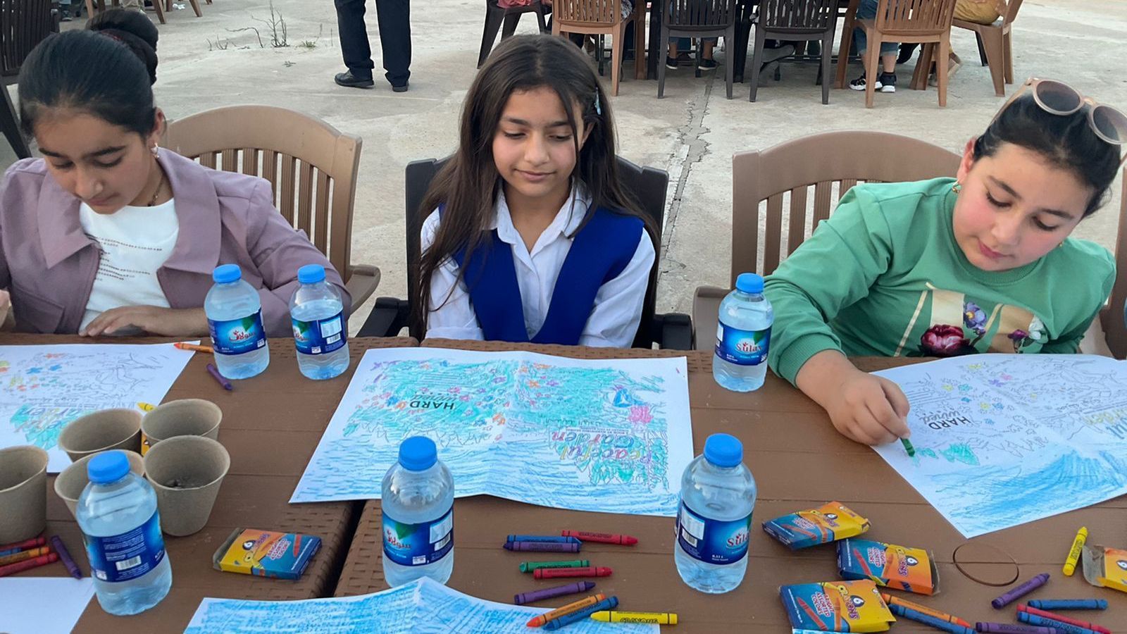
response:
[[[877,452],[966,537],[1127,493],[1127,362],[976,354],[873,373],[907,395],[916,455]]]

